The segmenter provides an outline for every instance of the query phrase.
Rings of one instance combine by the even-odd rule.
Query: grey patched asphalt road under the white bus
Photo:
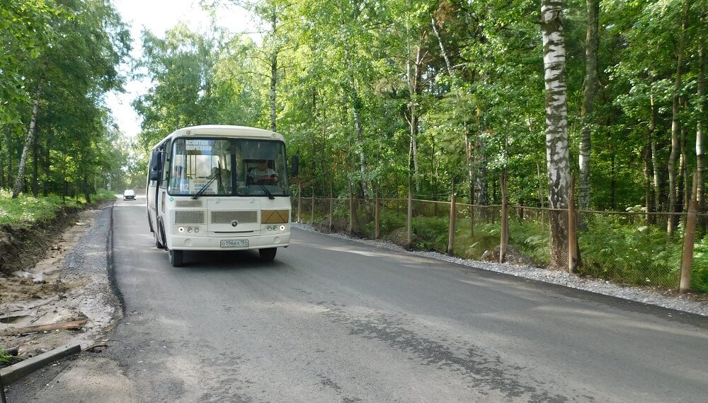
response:
[[[115,204],[125,317],[25,398],[64,402],[699,402],[708,320],[295,230],[169,265]],[[37,382],[39,383],[39,382]]]

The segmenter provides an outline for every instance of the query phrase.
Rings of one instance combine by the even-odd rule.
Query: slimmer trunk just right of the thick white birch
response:
[[[595,92],[598,83],[598,16],[600,0],[587,0],[588,28],[586,30],[585,47],[585,89],[583,90],[583,107],[581,117],[583,127],[580,136],[580,183],[578,184],[578,205],[581,209],[590,206],[590,146],[592,144],[590,122],[588,119],[595,109]]]

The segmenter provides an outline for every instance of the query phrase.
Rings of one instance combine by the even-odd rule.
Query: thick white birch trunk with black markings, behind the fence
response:
[[[546,88],[546,166],[549,205],[568,207],[570,165],[568,150],[568,107],[566,87],[566,47],[563,32],[563,1],[541,1],[541,30]],[[568,264],[568,216],[551,214],[551,267]]]

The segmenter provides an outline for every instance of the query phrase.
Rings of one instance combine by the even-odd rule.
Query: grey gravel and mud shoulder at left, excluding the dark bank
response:
[[[101,342],[122,315],[109,269],[113,203],[77,214],[34,267],[0,278],[0,347],[30,358],[68,343]],[[16,334],[16,329],[86,321],[79,329]]]

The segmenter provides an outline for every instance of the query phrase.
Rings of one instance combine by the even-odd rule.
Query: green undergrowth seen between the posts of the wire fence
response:
[[[329,201],[316,206],[314,223],[326,230],[329,225]],[[309,200],[307,200],[309,202]],[[340,200],[334,211],[333,230],[350,233],[346,201]],[[402,200],[401,202],[406,202]],[[416,211],[412,221],[413,240],[411,248],[445,253],[450,218],[445,204],[438,204],[438,211],[426,209]],[[309,203],[302,212],[302,219],[309,223],[312,219]],[[297,200],[294,211],[297,210]],[[484,260],[484,253],[498,249],[501,225],[498,214],[489,214],[476,209],[474,233],[470,230],[467,209],[458,209],[459,218],[455,226],[455,256],[464,259]],[[497,213],[497,212],[496,212]],[[635,216],[636,217],[636,216]],[[295,218],[294,218],[295,219]],[[372,218],[372,204],[358,209],[360,226],[354,235],[374,238],[375,222]],[[515,216],[509,221],[509,245],[518,259],[513,263],[547,267],[549,264],[549,228],[543,216],[528,214],[524,218]],[[683,252],[683,224],[679,233],[668,240],[666,231],[655,226],[646,226],[644,220],[630,219],[617,214],[594,214],[585,216],[585,228],[581,230],[578,244],[583,251],[582,264],[578,267],[580,276],[612,281],[615,284],[649,286],[659,290],[678,287]],[[399,207],[382,208],[380,213],[379,238],[406,247],[407,214]],[[498,255],[494,257],[498,259]],[[708,235],[695,243],[692,269],[692,289],[698,293],[708,293]]]

